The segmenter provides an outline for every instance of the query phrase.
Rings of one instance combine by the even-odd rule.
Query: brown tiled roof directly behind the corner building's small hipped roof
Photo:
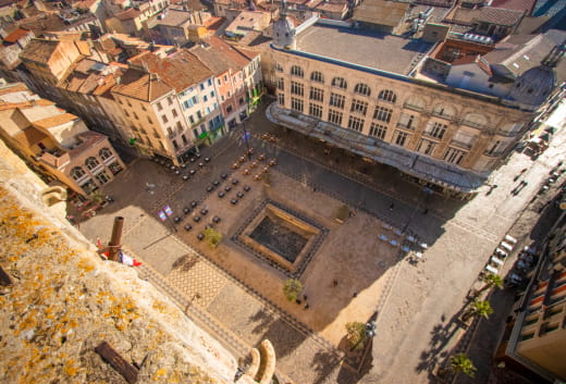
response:
[[[213,75],[213,73],[195,55],[187,51],[179,51],[167,59],[160,59],[151,52],[144,52],[130,62],[143,65],[177,92],[198,84]]]

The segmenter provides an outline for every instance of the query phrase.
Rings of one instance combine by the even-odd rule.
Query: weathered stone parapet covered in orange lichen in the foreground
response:
[[[231,383],[237,363],[134,269],[103,261],[47,208],[47,186],[0,141],[0,382],[120,383],[107,342],[137,383]],[[244,376],[239,383],[251,383]]]

